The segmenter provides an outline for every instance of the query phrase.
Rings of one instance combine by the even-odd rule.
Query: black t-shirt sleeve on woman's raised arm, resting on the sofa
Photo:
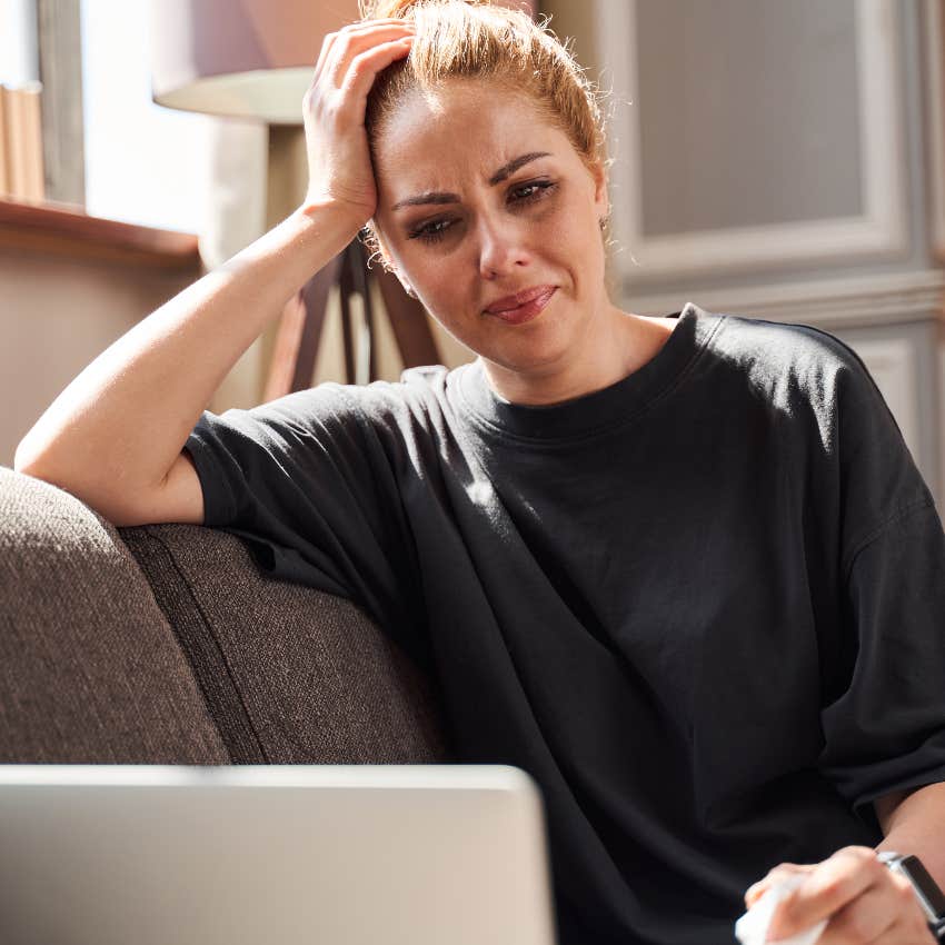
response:
[[[208,527],[276,578],[348,597],[417,656],[411,543],[388,455],[341,385],[205,410],[185,444]],[[414,636],[412,639],[405,637]]]

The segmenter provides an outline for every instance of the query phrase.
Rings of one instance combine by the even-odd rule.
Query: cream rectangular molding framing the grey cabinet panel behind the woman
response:
[[[628,286],[643,280],[720,272],[754,272],[836,262],[903,257],[908,250],[901,118],[901,11],[895,0],[857,0],[863,206],[861,217],[764,227],[705,230],[647,238],[640,199],[640,133],[637,61],[637,0],[595,0],[597,48],[620,106],[611,118],[614,236],[624,249],[615,265]],[[627,49],[631,50],[630,54]]]

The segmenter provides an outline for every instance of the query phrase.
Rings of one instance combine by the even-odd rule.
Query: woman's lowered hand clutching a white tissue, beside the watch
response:
[[[767,941],[787,938],[829,916],[817,945],[933,945],[935,937],[908,879],[868,846],[845,846],[816,864],[783,863],[749,886],[749,908],[773,883],[806,873],[775,908]]]

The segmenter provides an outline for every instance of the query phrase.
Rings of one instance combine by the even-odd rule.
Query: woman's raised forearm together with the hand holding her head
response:
[[[227,372],[374,213],[365,102],[377,73],[407,56],[412,30],[384,20],[325,38],[302,101],[309,185],[301,207],[99,355],[20,442],[17,470],[68,489],[115,523],[153,510]],[[192,488],[192,471],[182,471]]]

